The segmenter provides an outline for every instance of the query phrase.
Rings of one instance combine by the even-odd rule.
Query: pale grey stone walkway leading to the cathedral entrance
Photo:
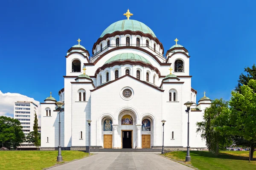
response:
[[[108,152],[79,159],[49,170],[193,170],[155,153]]]

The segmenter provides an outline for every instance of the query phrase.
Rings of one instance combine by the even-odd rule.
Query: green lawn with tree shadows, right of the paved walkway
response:
[[[165,153],[164,156],[185,161],[186,151]],[[190,156],[190,164],[200,170],[256,170],[256,161],[248,162],[249,151],[221,151],[218,156],[208,151],[190,151]]]

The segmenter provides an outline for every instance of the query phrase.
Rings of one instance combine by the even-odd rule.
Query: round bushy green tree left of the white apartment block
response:
[[[20,121],[10,117],[0,116],[0,141],[6,147],[16,149],[24,140],[25,135],[22,131]]]

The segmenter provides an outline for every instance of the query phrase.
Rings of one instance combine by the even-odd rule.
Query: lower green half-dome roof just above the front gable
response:
[[[130,60],[130,61],[141,61],[144,62],[145,64],[151,64],[147,59],[144,57],[134,54],[134,53],[122,53],[122,54],[117,54],[110,59],[108,59],[105,64],[115,62],[115,61],[125,61],[125,60]]]

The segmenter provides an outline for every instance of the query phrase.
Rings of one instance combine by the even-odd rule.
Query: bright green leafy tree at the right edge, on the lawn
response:
[[[256,80],[251,79],[247,85],[239,87],[239,91],[232,91],[230,100],[230,127],[223,130],[232,135],[240,136],[250,144],[249,161],[253,159],[256,143]],[[239,107],[238,107],[239,106]]]

